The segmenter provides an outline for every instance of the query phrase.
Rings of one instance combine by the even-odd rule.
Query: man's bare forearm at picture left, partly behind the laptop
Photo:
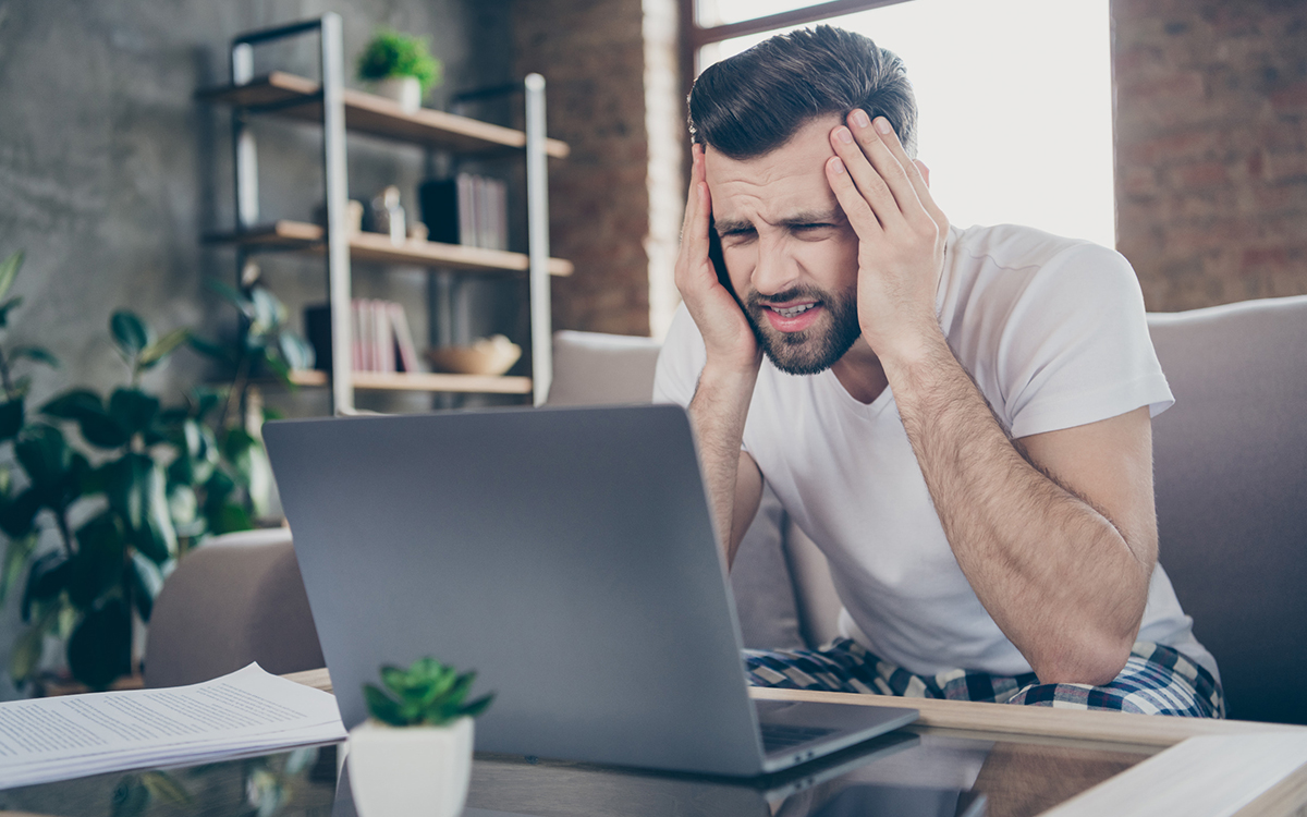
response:
[[[749,370],[718,370],[707,366],[699,376],[689,409],[718,541],[725,549],[728,565],[748,528],[748,520],[741,519],[752,518],[757,510],[737,507],[740,444],[757,379],[757,366]]]

